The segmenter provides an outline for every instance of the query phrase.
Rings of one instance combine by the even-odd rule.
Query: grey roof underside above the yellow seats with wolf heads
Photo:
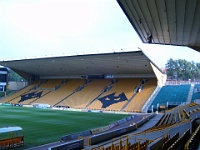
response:
[[[142,51],[1,61],[0,65],[40,78],[154,74]]]

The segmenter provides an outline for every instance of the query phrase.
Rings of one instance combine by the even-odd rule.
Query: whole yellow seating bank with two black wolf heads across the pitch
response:
[[[141,112],[156,83],[155,78],[40,80],[6,96],[1,103]]]

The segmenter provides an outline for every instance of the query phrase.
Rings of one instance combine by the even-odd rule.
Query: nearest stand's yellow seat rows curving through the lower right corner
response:
[[[196,110],[196,111],[194,111]],[[195,115],[189,115],[194,112]],[[188,113],[188,115],[186,115]],[[191,148],[195,143],[192,139],[197,138],[199,126],[192,125],[200,113],[200,105],[190,103],[185,106],[179,106],[166,112],[163,117],[151,128],[141,132],[124,135],[115,138],[105,144],[93,145],[85,149],[184,149]],[[177,119],[181,117],[181,119]],[[138,123],[139,125],[139,123]],[[136,124],[137,128],[137,124]],[[192,133],[192,130],[194,132]],[[136,130],[137,131],[137,130]],[[192,133],[192,134],[191,134]],[[98,135],[96,135],[98,136]]]

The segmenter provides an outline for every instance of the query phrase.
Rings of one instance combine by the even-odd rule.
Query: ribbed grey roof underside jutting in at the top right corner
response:
[[[117,0],[143,43],[200,52],[200,0]]]

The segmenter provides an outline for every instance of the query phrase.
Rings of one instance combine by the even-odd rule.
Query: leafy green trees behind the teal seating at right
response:
[[[188,80],[200,79],[200,63],[188,62],[185,59],[167,61],[167,76],[170,79]]]

